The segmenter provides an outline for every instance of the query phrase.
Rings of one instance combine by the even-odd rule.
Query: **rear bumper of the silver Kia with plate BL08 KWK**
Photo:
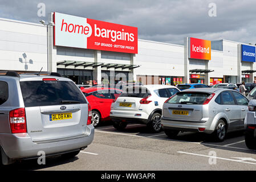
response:
[[[27,133],[0,134],[0,144],[3,151],[10,159],[32,159],[39,157],[38,152],[43,151],[46,156],[64,154],[70,151],[87,147],[94,139],[94,126],[88,125],[86,134],[79,138],[63,139],[58,142],[35,143]]]

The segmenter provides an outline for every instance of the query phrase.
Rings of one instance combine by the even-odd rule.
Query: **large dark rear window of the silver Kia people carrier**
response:
[[[86,99],[72,81],[21,81],[25,107],[86,104]]]

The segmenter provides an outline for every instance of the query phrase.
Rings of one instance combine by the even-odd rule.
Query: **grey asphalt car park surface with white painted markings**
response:
[[[94,142],[70,159],[22,161],[4,169],[22,170],[255,170],[256,151],[249,150],[243,132],[229,133],[213,142],[202,133],[180,133],[175,139],[163,131],[151,133],[145,125],[131,124],[117,131],[111,122],[95,130]]]

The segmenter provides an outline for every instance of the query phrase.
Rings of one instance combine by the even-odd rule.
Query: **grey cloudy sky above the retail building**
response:
[[[256,43],[255,0],[0,0],[0,18],[38,23],[38,3],[46,16],[59,12],[138,27],[139,38],[183,44],[186,36]],[[216,15],[213,6],[216,5]]]

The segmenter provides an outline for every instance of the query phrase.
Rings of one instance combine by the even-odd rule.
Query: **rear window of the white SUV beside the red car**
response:
[[[123,93],[119,97],[139,97],[139,98],[145,98],[149,96],[151,93],[148,89],[144,87],[128,87],[124,90]]]

